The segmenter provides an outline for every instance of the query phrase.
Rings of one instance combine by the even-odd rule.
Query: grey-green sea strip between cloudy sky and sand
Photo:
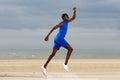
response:
[[[0,50],[0,59],[46,59],[51,50]],[[61,49],[57,52],[54,59],[64,59],[67,50]],[[73,59],[120,59],[120,50],[93,50],[79,49],[74,50],[71,58]]]

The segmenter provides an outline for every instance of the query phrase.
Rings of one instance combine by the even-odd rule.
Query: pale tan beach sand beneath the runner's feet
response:
[[[120,80],[119,59],[70,59],[70,72],[62,67],[63,59],[53,59],[47,78],[41,72],[45,60],[0,60],[0,80]]]

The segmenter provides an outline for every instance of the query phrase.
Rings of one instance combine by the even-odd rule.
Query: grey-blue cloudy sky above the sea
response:
[[[0,49],[51,49],[58,30],[44,37],[73,7],[66,40],[74,49],[120,50],[120,0],[0,0]]]

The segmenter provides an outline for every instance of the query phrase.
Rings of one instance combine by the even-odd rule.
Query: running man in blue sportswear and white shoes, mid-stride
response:
[[[48,41],[49,40],[49,36],[50,34],[59,28],[59,32],[57,34],[57,36],[54,38],[54,46],[53,46],[53,51],[52,53],[50,54],[50,56],[48,57],[46,63],[41,66],[41,69],[42,69],[42,72],[45,76],[47,76],[47,71],[46,71],[46,68],[47,68],[47,65],[48,63],[51,61],[51,59],[55,56],[56,52],[60,49],[60,47],[64,47],[65,49],[68,50],[67,52],[67,55],[66,55],[66,59],[65,59],[65,62],[62,64],[63,65],[63,68],[69,72],[69,69],[68,69],[68,60],[71,56],[71,53],[73,51],[73,48],[70,46],[70,44],[65,40],[65,36],[67,34],[67,30],[68,30],[68,23],[72,22],[75,18],[76,18],[76,8],[74,7],[73,8],[73,16],[72,18],[69,18],[68,14],[67,13],[64,13],[62,14],[61,18],[63,19],[62,22],[60,22],[59,24],[57,24],[56,26],[54,26],[50,32],[48,33],[48,35],[45,37],[45,41]]]

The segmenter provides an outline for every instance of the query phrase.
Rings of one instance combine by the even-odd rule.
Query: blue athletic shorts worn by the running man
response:
[[[54,39],[53,49],[59,49],[61,46],[66,47],[69,43],[65,39]]]

